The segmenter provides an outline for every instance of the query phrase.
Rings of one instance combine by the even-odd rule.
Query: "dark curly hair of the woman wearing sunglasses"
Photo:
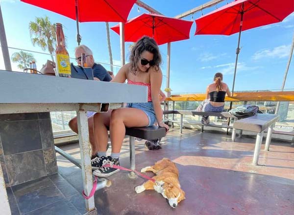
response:
[[[136,44],[133,45],[131,49],[131,54],[129,57],[131,63],[131,72],[137,73],[138,63],[140,56],[144,51],[151,52],[153,54],[154,69],[159,70],[160,65],[162,64],[161,55],[157,43],[153,38],[148,36],[143,36]],[[148,72],[148,69],[146,70]]]

